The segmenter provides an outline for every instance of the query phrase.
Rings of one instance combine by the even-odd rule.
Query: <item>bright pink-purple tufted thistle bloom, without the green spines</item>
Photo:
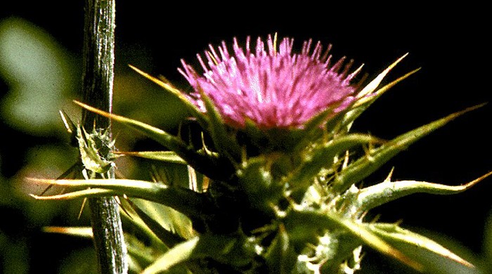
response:
[[[258,38],[252,51],[250,37],[245,48],[234,39],[232,55],[224,41],[219,53],[209,45],[207,63],[197,55],[205,71],[201,76],[181,60],[179,72],[194,89],[188,98],[205,112],[201,100],[205,94],[224,122],[238,129],[247,120],[259,129],[302,129],[328,108],[335,114],[349,107],[356,91],[351,79],[359,70],[349,73],[352,62],[344,65],[344,58],[332,65],[330,46],[323,53],[318,42],[311,52],[309,40],[304,41],[301,53],[292,53],[293,42],[285,37],[277,49],[276,37],[269,35],[268,48]]]

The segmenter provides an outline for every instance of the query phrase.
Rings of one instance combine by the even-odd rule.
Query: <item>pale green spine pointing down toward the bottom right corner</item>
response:
[[[471,263],[433,240],[410,230],[391,223],[370,223],[365,224],[365,227],[410,259],[422,264],[426,273],[479,273]]]

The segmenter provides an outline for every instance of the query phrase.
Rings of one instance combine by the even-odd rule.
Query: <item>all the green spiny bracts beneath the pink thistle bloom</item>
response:
[[[440,269],[435,258],[439,257],[441,263],[471,272],[470,263],[432,240],[397,224],[363,220],[368,210],[399,197],[459,193],[485,177],[453,187],[391,181],[389,176],[382,183],[358,187],[401,150],[472,110],[449,115],[390,141],[351,133],[354,119],[387,89],[413,73],[380,87],[400,60],[361,89],[350,107],[335,115],[332,110],[321,112],[302,129],[292,130],[260,129],[249,119],[242,128],[231,128],[205,93],[201,93],[203,112],[167,81],[137,70],[183,101],[207,137],[202,140],[208,143],[189,143],[148,124],[77,103],[164,145],[169,151],[127,154],[155,159],[164,166],[181,164],[189,180],[169,181],[158,174],[154,174],[153,182],[37,180],[75,188],[65,195],[38,198],[129,197],[121,199],[125,216],[149,239],[145,247],[127,235],[129,254],[133,269],[146,274],[354,273],[361,266],[364,245],[417,270],[437,273]],[[85,131],[79,132],[79,139],[84,138]],[[362,156],[351,156],[361,151]],[[76,190],[80,187],[91,189]]]

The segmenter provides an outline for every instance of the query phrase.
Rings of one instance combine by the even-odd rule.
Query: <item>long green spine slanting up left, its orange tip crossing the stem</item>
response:
[[[131,127],[132,129],[141,131],[146,136],[153,138],[155,141],[176,152],[176,154],[186,160],[190,166],[200,173],[207,175],[209,178],[225,179],[229,178],[229,176],[233,174],[233,167],[230,162],[225,159],[221,159],[220,157],[217,158],[213,154],[209,155],[206,153],[196,152],[193,148],[179,140],[179,138],[172,136],[162,129],[157,129],[154,126],[138,122],[134,119],[114,115],[109,112],[104,112],[103,110],[98,110],[97,108],[91,107],[84,103],[77,101],[74,102],[77,105],[84,107],[86,110],[95,112],[98,115],[102,115],[110,119],[114,119],[117,122],[121,122],[122,124]]]

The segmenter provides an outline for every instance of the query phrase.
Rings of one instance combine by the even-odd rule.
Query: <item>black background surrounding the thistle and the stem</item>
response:
[[[9,1],[12,6],[1,8],[0,19],[15,15],[30,20],[55,37],[79,62],[84,20],[82,1],[29,2]],[[320,6],[297,1],[268,7],[266,2],[118,1],[116,73],[131,73],[127,68],[131,63],[151,74],[162,74],[182,83],[183,78],[176,70],[181,58],[194,61],[195,54],[209,43],[229,42],[232,37],[244,39],[247,35],[265,37],[274,32],[279,37],[294,37],[297,46],[309,38],[333,44],[335,57],[353,58],[356,65],[364,63],[364,72],[370,76],[408,52],[410,55],[387,79],[396,79],[417,67],[422,70],[384,95],[354,125],[355,131],[392,138],[492,98],[486,8],[472,4],[430,7],[410,3],[413,2],[406,6],[355,3]],[[0,87],[2,94],[8,90],[6,83],[0,82]],[[460,185],[485,174],[492,170],[491,115],[492,106],[486,105],[456,119],[402,152],[365,183],[381,181],[391,167],[395,167],[395,179],[449,185]],[[5,124],[1,125],[1,131],[1,163],[6,178],[22,167],[25,148],[21,144],[25,140],[31,146],[49,141],[49,138],[27,136]],[[381,214],[380,219],[389,222],[401,219],[403,227],[439,233],[439,237],[444,235],[480,257],[484,252],[484,226],[492,209],[491,193],[492,181],[488,178],[459,195],[406,197],[373,210],[373,216]],[[22,212],[7,210],[3,217],[11,218],[8,217],[11,214],[22,220]],[[18,228],[25,223],[28,221],[14,221],[11,227],[23,231],[22,237],[33,239],[32,270],[42,268],[45,273],[53,273],[58,258],[71,248],[66,244],[86,244],[84,240],[68,237],[42,237],[37,227]],[[39,255],[44,252],[53,257],[46,259]],[[368,252],[366,260],[389,264],[380,269],[399,269],[372,252]],[[378,267],[374,271],[377,273]]]

